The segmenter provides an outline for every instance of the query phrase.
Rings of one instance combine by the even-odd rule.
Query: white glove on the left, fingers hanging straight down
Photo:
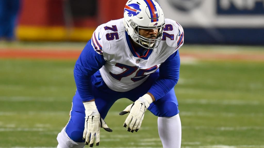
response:
[[[100,144],[100,128],[103,127],[108,132],[112,132],[105,121],[101,118],[95,101],[92,102],[83,102],[85,108],[85,124],[83,131],[83,140],[85,140],[85,144],[90,147],[93,147],[93,140],[96,139],[96,145]]]

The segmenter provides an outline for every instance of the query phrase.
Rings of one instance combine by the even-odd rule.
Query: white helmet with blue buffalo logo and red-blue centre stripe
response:
[[[128,0],[124,8],[124,25],[128,35],[140,46],[150,49],[158,47],[165,18],[161,6],[155,0]],[[158,29],[155,39],[139,35],[139,29]]]

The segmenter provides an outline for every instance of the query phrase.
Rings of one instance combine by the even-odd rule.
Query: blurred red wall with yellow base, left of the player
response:
[[[124,0],[93,0],[94,16],[73,16],[71,0],[23,0],[16,35],[22,41],[88,41],[96,27],[123,17]],[[82,3],[92,0],[78,0]],[[92,4],[92,3],[91,3]]]

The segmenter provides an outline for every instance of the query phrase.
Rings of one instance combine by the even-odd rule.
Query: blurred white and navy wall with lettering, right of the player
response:
[[[185,41],[263,45],[263,0],[159,0],[167,18],[182,24]]]

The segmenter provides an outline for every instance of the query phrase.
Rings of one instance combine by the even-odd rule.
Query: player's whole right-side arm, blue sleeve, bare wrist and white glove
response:
[[[178,82],[180,72],[180,56],[176,51],[159,68],[160,77],[150,88],[150,90],[139,97],[133,104],[125,108],[119,115],[129,113],[124,122],[124,127],[128,126],[127,131],[138,131],[144,119],[144,113],[150,103],[165,96]]]

